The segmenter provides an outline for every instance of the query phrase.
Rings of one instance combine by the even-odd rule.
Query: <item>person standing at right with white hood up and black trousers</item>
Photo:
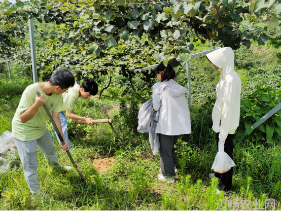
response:
[[[217,85],[217,100],[213,109],[213,130],[219,140],[225,142],[224,151],[233,159],[233,138],[240,119],[241,80],[234,71],[235,55],[230,47],[221,48],[206,55],[214,67],[221,73]],[[232,188],[233,168],[226,173],[210,174],[210,178],[220,180],[217,193],[226,193]]]

